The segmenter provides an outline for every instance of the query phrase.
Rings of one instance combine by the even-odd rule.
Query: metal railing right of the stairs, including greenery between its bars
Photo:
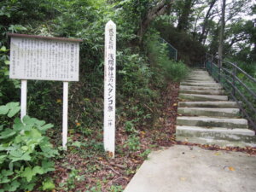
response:
[[[236,63],[220,60],[217,56],[206,55],[204,67],[241,109],[249,127],[256,131],[256,79],[243,71]]]

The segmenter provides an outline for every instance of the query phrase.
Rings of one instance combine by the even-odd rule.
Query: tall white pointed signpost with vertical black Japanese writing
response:
[[[115,72],[116,26],[109,20],[105,27],[104,58],[104,148],[114,157],[115,145]]]

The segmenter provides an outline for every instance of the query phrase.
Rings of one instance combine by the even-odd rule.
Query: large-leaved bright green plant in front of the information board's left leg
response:
[[[0,107],[0,191],[32,190],[43,175],[54,171],[50,158],[58,154],[45,131],[53,127],[25,116],[11,119],[20,111],[18,102]],[[6,117],[7,116],[7,117]],[[43,183],[44,184],[44,183]]]

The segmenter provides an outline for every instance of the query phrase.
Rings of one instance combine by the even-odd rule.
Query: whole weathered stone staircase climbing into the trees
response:
[[[255,132],[241,119],[236,102],[205,70],[195,69],[181,82],[177,141],[218,146],[256,147]]]

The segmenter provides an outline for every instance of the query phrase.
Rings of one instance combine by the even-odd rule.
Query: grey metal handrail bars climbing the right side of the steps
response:
[[[217,61],[218,64],[214,63],[213,61]],[[228,65],[228,68],[223,67],[222,65],[220,65],[220,63],[223,63],[224,65]],[[225,90],[228,90],[230,93],[230,96],[237,102],[238,107],[241,109],[241,113],[247,117],[247,119],[250,122],[250,125],[253,126],[253,129],[256,131],[256,119],[253,118],[252,113],[255,114],[256,113],[256,108],[254,108],[253,106],[253,102],[256,101],[256,93],[250,89],[247,84],[245,84],[241,79],[239,79],[237,77],[237,71],[239,73],[242,73],[245,75],[245,77],[247,77],[247,79],[253,83],[256,83],[256,79],[253,78],[251,75],[249,75],[248,73],[246,73],[245,71],[243,71],[240,67],[238,67],[236,65],[236,63],[232,63],[230,61],[224,61],[224,60],[220,60],[217,56],[213,56],[213,55],[209,55],[207,54],[206,56],[206,60],[205,60],[205,66],[207,67],[208,72],[213,76],[214,79],[216,79],[220,84],[223,84],[223,87]],[[215,67],[214,70],[214,75],[213,75],[213,67]],[[231,69],[229,69],[229,67]],[[221,78],[224,77],[224,81],[221,81]],[[228,79],[230,78],[230,80]],[[225,85],[224,82],[230,84],[230,89],[228,89]],[[241,87],[245,88],[245,90],[243,91],[247,91],[250,94],[250,98],[249,99],[247,96],[245,96],[244,92],[239,90],[239,88],[237,87],[237,83],[239,85],[241,85]],[[246,108],[249,108],[251,110],[252,113],[247,112],[246,108],[244,106],[241,105],[241,103],[239,103],[239,96],[241,98],[242,101],[244,101],[244,104],[246,105]],[[253,102],[252,102],[253,100]]]

